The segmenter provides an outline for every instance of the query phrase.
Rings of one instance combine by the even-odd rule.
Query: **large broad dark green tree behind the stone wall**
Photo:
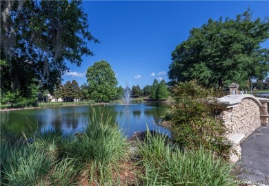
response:
[[[269,37],[268,20],[252,20],[247,10],[235,20],[209,19],[193,28],[188,40],[172,52],[170,83],[197,80],[203,86],[223,87],[248,80],[251,89],[252,78],[264,79],[269,71],[269,50],[260,45]]]

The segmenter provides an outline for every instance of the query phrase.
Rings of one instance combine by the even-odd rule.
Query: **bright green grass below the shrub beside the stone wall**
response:
[[[182,151],[166,136],[147,131],[138,154],[143,185],[235,185],[229,176],[232,166],[202,147]]]

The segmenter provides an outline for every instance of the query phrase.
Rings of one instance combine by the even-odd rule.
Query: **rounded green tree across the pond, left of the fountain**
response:
[[[88,68],[86,77],[92,99],[103,101],[117,98],[118,81],[108,62],[95,62]]]

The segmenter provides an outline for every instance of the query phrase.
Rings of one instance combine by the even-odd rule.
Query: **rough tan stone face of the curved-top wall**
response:
[[[257,102],[246,98],[241,103],[226,108],[218,118],[230,131],[228,138],[235,133],[245,134],[245,138],[261,126],[260,108]]]

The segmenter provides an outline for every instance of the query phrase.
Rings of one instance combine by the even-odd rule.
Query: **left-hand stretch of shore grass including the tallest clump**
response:
[[[25,139],[0,135],[0,185],[78,185],[81,179],[115,185],[121,162],[129,156],[126,135],[110,111],[93,111],[79,136],[61,130],[35,133]]]

